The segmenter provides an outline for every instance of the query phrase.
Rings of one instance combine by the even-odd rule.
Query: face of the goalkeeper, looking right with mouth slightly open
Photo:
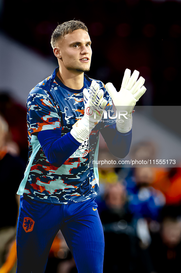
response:
[[[89,71],[92,56],[90,45],[89,34],[83,29],[66,34],[57,43],[61,54],[60,65],[67,70]]]

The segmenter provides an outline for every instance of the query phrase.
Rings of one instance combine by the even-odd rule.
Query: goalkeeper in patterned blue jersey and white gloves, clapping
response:
[[[27,99],[28,164],[17,194],[17,273],[43,273],[59,230],[79,273],[102,273],[104,234],[95,197],[99,132],[110,151],[124,158],[130,149],[132,110],[145,92],[138,71],[126,70],[121,90],[87,77],[91,41],[80,21],[58,25],[51,45],[59,67]],[[141,87],[142,86],[142,87]],[[107,90],[106,90],[107,89]],[[100,122],[104,110],[114,122]],[[108,120],[107,120],[108,121]],[[111,125],[109,125],[111,124]]]

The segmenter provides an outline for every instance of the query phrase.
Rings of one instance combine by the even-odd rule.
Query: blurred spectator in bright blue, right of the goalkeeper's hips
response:
[[[134,176],[126,179],[128,207],[133,214],[133,224],[142,249],[147,249],[151,243],[149,224],[158,222],[160,211],[165,205],[163,193],[150,186],[153,178],[153,168],[141,167],[135,168]]]

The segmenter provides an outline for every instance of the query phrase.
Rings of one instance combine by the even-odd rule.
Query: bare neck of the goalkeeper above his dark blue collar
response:
[[[57,77],[65,86],[71,89],[80,90],[84,86],[84,72],[61,74],[60,70],[58,70]]]

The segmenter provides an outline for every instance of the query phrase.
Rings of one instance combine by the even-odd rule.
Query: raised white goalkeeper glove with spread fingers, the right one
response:
[[[138,76],[139,72],[137,70],[134,70],[131,76],[131,70],[126,69],[119,92],[116,91],[111,82],[105,85],[117,110],[116,128],[122,133],[127,133],[131,130],[133,108],[146,91],[145,86],[143,86],[145,79],[143,77],[138,79]]]

